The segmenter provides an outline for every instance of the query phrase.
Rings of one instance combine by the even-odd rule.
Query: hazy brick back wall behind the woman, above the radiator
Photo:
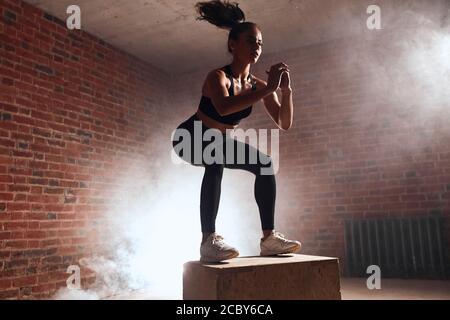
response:
[[[280,61],[291,70],[294,123],[280,132],[276,224],[302,241],[304,253],[338,256],[342,268],[346,218],[440,213],[450,245],[450,105],[430,102],[435,111],[426,111],[429,106],[420,104],[426,92],[407,81],[390,82],[377,60],[370,64],[366,56],[381,44],[392,45],[394,53],[389,39],[380,34],[263,53],[251,70],[262,79]],[[174,105],[180,121],[196,110],[208,71],[178,77]],[[407,77],[405,70],[397,72]],[[395,86],[418,100],[394,95]],[[426,121],[417,116],[419,109],[425,109]],[[261,102],[240,127],[276,128]],[[247,201],[254,202],[251,190]]]

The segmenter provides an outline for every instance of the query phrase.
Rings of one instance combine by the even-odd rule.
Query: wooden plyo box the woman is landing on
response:
[[[186,262],[185,300],[340,300],[338,258],[287,254]]]

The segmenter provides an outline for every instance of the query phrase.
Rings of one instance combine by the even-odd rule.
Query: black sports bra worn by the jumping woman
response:
[[[230,79],[231,81],[231,86],[228,89],[228,94],[230,96],[234,96],[234,83],[233,83],[233,78],[232,78],[232,72],[231,72],[231,66],[230,65],[226,65],[224,68],[225,74],[227,75],[227,77]],[[251,74],[248,75],[248,78],[251,80],[252,82],[252,91],[256,90],[256,83],[252,77]],[[198,106],[198,108],[204,113],[206,114],[208,117],[221,122],[221,123],[226,123],[226,124],[231,124],[231,125],[237,125],[239,124],[239,122],[244,119],[247,118],[250,113],[252,112],[252,107],[250,106],[244,110],[238,111],[238,112],[234,112],[231,114],[228,114],[226,116],[221,116],[216,108],[214,107],[212,101],[210,98],[205,97],[202,95],[201,99],[200,99],[200,104]]]

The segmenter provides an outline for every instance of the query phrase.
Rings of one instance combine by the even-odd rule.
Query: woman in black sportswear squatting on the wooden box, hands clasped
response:
[[[289,69],[284,63],[273,65],[268,72],[268,80],[259,79],[250,74],[250,65],[256,63],[262,52],[262,37],[258,26],[252,22],[244,22],[245,15],[237,3],[227,1],[209,1],[196,4],[200,16],[198,20],[208,22],[230,30],[228,51],[233,55],[231,64],[212,70],[206,77],[202,88],[202,97],[197,112],[181,123],[177,130],[194,134],[195,126],[202,133],[208,129],[220,133],[223,138],[221,151],[226,153],[229,142],[235,150],[245,148],[245,163],[231,161],[207,163],[193,160],[191,154],[177,152],[178,140],[172,139],[175,152],[184,160],[196,166],[203,166],[205,173],[202,180],[200,196],[200,220],[203,239],[200,246],[201,261],[218,262],[237,257],[239,252],[227,245],[224,238],[215,232],[215,220],[219,206],[221,181],[224,168],[242,169],[255,175],[254,195],[259,208],[263,238],[260,242],[261,255],[277,255],[292,253],[300,249],[300,242],[286,239],[274,230],[274,210],[276,183],[275,174],[262,174],[262,168],[272,168],[269,155],[260,152],[247,143],[231,137],[230,130],[239,121],[248,117],[252,104],[263,99],[265,108],[282,130],[288,130],[292,124],[293,104],[290,87]],[[281,90],[282,102],[278,101],[277,89]],[[218,131],[217,131],[218,130]],[[194,150],[191,139],[191,150]],[[201,142],[202,151],[208,143]],[[199,147],[200,148],[200,147]],[[198,150],[198,149],[197,149]],[[250,152],[258,155],[257,163],[250,163]],[[183,154],[184,153],[184,154]],[[235,152],[236,153],[236,152]],[[266,171],[267,172],[267,171]]]

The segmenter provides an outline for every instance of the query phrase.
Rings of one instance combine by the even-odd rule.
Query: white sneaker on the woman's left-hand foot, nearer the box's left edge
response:
[[[222,260],[233,259],[239,255],[239,252],[227,245],[222,236],[217,233],[211,233],[204,243],[200,246],[200,261],[219,262]]]

